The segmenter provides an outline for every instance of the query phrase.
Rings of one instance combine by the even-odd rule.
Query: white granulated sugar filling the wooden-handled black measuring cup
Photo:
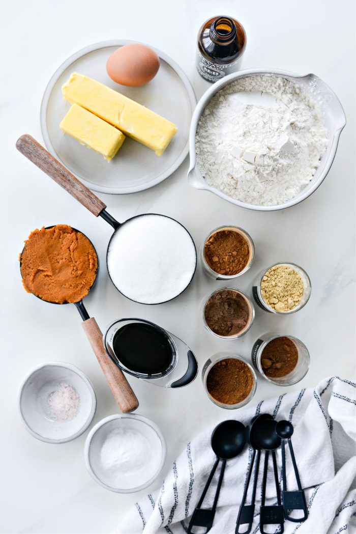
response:
[[[121,293],[137,302],[157,304],[179,295],[191,281],[195,246],[177,221],[163,215],[142,215],[115,232],[107,264]]]

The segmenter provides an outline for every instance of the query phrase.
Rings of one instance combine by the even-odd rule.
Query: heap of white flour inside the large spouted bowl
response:
[[[327,145],[317,102],[295,83],[268,74],[218,91],[200,117],[195,143],[208,184],[258,206],[296,197]]]

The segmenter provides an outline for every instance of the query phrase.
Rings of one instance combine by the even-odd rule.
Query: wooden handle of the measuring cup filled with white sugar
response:
[[[18,138],[16,148],[96,217],[106,208],[104,202],[98,199],[88,187],[85,187],[56,158],[53,158],[33,137],[25,133],[25,135]]]

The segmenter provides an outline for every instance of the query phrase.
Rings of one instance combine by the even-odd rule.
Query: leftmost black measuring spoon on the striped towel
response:
[[[211,435],[211,448],[216,454],[215,464],[212,466],[205,488],[201,494],[198,504],[193,512],[192,519],[189,522],[188,534],[193,533],[194,527],[205,527],[205,532],[209,532],[214,521],[216,505],[218,503],[221,483],[223,482],[226,460],[235,458],[242,452],[246,445],[245,426],[240,421],[223,421],[214,430]],[[205,495],[215,474],[219,461],[222,460],[218,485],[215,492],[215,498],[210,508],[201,508]]]

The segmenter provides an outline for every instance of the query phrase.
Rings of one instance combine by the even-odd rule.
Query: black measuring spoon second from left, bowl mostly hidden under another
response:
[[[258,480],[258,471],[259,471],[259,461],[261,456],[261,450],[260,447],[256,444],[254,439],[254,431],[256,426],[258,427],[258,424],[260,421],[265,421],[266,419],[272,419],[272,415],[269,413],[262,413],[260,415],[256,415],[254,418],[251,419],[250,424],[246,427],[246,438],[247,442],[250,444],[252,449],[254,449],[254,452],[252,453],[252,458],[250,462],[250,467],[247,473],[247,479],[243,491],[242,501],[239,508],[239,515],[238,519],[236,520],[236,528],[235,528],[235,534],[249,534],[252,529],[252,523],[254,522],[254,513],[255,513],[255,498],[256,498],[256,488],[257,488],[257,480]],[[255,464],[256,460],[256,464]],[[251,504],[245,504],[246,498],[247,498],[247,492],[250,485],[252,470],[254,469],[255,465],[255,475],[254,475],[254,484],[252,485],[252,494],[251,494]],[[240,532],[241,525],[247,524],[247,530],[244,530],[243,532]]]

